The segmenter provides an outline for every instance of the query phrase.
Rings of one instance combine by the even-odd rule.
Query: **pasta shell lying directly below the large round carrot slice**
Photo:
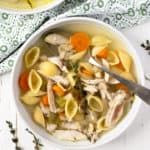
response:
[[[73,55],[69,56],[69,60],[72,61],[72,62],[76,62],[76,61],[82,59],[84,57],[84,55],[86,54],[86,52],[87,51],[85,50],[85,51],[73,54]]]

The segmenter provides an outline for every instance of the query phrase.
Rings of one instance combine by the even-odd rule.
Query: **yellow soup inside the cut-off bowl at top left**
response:
[[[34,9],[53,1],[54,0],[0,0],[0,6],[16,10]]]

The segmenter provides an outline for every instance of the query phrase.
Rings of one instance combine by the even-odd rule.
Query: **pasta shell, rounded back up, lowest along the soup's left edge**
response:
[[[45,127],[44,115],[42,113],[42,110],[38,106],[35,107],[35,110],[33,112],[33,119],[37,124],[39,124],[42,127]]]

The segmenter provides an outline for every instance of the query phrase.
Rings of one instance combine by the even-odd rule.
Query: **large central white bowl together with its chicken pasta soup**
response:
[[[139,110],[139,98],[91,65],[89,57],[133,82],[144,82],[140,60],[127,39],[89,18],[47,24],[21,48],[13,69],[12,92],[20,115],[33,131],[61,148],[105,144]]]

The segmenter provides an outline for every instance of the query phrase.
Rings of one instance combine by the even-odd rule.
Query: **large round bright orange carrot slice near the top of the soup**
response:
[[[86,33],[78,32],[71,36],[71,45],[76,51],[87,50],[90,45],[89,36]]]

